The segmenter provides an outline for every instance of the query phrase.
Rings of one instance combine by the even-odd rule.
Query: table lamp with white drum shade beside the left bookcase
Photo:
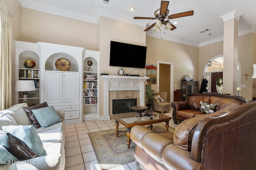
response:
[[[23,102],[27,103],[27,91],[36,90],[34,80],[17,80],[15,84],[15,91],[23,92]]]

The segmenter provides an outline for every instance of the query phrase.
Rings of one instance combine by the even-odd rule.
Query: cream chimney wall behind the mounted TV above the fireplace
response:
[[[97,27],[97,49],[100,51],[100,73],[117,75],[120,69],[120,67],[117,66],[109,66],[110,41],[146,46],[146,33],[142,31],[143,27],[106,17],[100,17]],[[122,54],[120,54],[120,57],[122,57]],[[123,70],[124,74],[136,74],[138,72],[138,70],[132,72],[134,68],[127,67],[124,67]],[[145,69],[142,70],[145,73]],[[100,79],[100,94],[103,93],[103,89],[104,84]],[[104,98],[100,97],[100,116],[102,116],[104,112],[104,103]]]

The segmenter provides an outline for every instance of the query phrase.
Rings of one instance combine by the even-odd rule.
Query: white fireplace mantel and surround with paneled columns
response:
[[[147,76],[111,76],[101,75],[104,81],[104,89],[102,96],[104,96],[104,113],[103,120],[109,120],[109,91],[121,90],[139,90],[140,91],[140,106],[145,104],[145,81],[149,79]]]

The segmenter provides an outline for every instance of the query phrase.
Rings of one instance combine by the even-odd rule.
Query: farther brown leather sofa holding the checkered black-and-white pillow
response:
[[[191,117],[206,116],[208,113],[200,111],[200,102],[216,104],[215,111],[220,111],[227,106],[240,106],[247,101],[241,96],[229,96],[219,93],[192,94],[187,101],[172,102],[172,117],[174,124]]]

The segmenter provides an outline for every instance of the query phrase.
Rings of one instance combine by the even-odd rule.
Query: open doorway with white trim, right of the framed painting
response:
[[[157,92],[167,92],[166,102],[173,102],[173,70],[174,63],[158,61]]]

